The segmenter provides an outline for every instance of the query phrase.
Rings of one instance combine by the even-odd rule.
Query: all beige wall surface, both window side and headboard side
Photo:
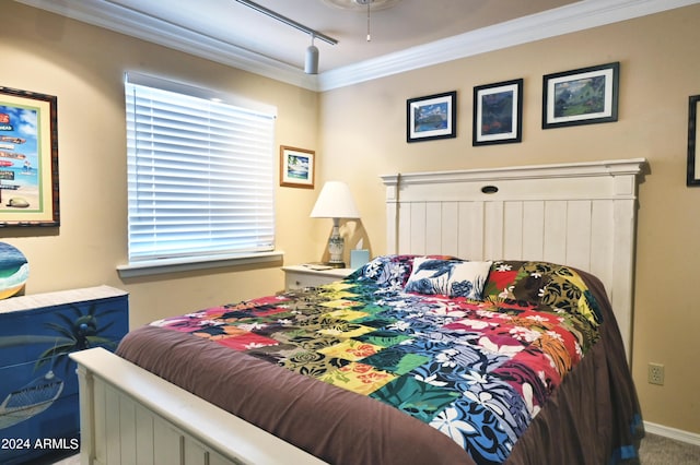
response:
[[[633,375],[644,419],[700,433],[695,342],[700,312],[692,258],[700,257],[700,189],[685,187],[687,100],[700,94],[700,7],[643,17],[457,60],[320,95],[55,16],[14,2],[0,32],[0,85],[59,99],[60,229],[0,230],[30,259],[27,293],[109,284],[131,293],[131,324],[270,294],[278,264],[122,282],[126,262],[126,146],[121,79],[136,70],[231,91],[277,105],[278,144],[317,151],[320,179],[351,184],[362,214],[349,235],[385,250],[378,175],[424,169],[645,157],[640,188]],[[608,124],[540,129],[541,76],[621,62],[620,117]],[[8,64],[11,63],[11,64]],[[525,79],[520,144],[471,146],[471,90]],[[406,99],[458,92],[458,136],[405,142]],[[318,260],[329,223],[307,218],[315,191],[279,188],[278,247],[285,263]],[[366,231],[366,233],[365,233]],[[693,311],[695,310],[695,311]],[[666,383],[646,383],[646,363]]]

